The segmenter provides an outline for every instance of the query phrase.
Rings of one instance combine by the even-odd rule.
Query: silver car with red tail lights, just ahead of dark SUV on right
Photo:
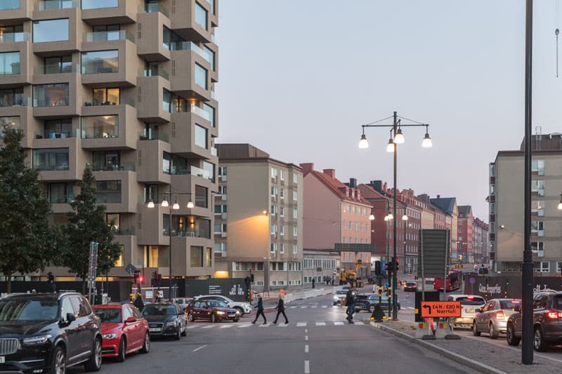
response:
[[[472,323],[472,333],[480,336],[488,333],[490,338],[496,339],[500,333],[507,331],[507,320],[515,313],[516,305],[521,305],[519,299],[492,299],[481,309],[475,309],[476,316]]]

